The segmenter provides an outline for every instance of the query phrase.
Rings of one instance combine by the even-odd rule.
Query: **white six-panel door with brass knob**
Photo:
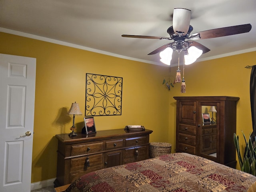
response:
[[[35,81],[35,58],[0,54],[0,192],[30,192]]]

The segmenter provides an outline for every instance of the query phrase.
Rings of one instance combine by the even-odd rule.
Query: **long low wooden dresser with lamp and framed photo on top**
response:
[[[70,137],[58,134],[57,178],[54,186],[70,184],[76,178],[108,168],[149,158],[152,130],[102,130]],[[89,162],[89,164],[88,164]],[[89,165],[89,166],[88,166]]]

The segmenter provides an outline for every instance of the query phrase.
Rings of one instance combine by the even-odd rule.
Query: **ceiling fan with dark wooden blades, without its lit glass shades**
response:
[[[148,55],[162,52],[168,47],[172,48],[173,51],[176,51],[178,53],[184,51],[184,54],[188,54],[188,49],[192,46],[198,48],[199,50],[202,50],[202,54],[204,54],[209,52],[210,49],[193,40],[209,39],[247,33],[252,28],[251,24],[242,24],[237,26],[210,29],[190,35],[190,33],[193,30],[193,27],[190,25],[190,17],[191,10],[185,8],[174,8],[173,26],[170,26],[167,29],[167,33],[170,35],[170,37],[141,35],[122,35],[122,37],[173,40],[172,42],[169,42],[157,48],[156,50],[150,52]]]

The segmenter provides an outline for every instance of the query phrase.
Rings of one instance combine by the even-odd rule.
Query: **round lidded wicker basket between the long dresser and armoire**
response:
[[[158,157],[164,154],[170,154],[172,150],[172,144],[163,142],[152,142],[149,145],[150,158]]]

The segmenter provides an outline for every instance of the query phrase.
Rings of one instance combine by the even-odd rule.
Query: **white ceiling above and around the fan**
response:
[[[164,65],[148,53],[168,40],[121,35],[169,37],[174,8],[191,10],[191,34],[252,25],[249,33],[196,40],[211,50],[199,61],[256,50],[256,0],[0,0],[0,31]]]

